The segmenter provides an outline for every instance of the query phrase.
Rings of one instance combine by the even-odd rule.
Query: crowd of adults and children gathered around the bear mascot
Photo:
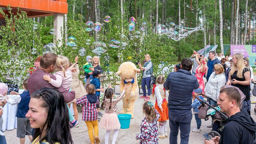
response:
[[[143,95],[140,98],[146,101],[142,109],[146,117],[140,125],[140,133],[135,137],[140,144],[157,144],[158,139],[168,137],[167,120],[170,128],[169,143],[177,144],[180,130],[181,143],[188,144],[192,109],[197,125],[192,132],[200,132],[202,122],[198,113],[201,101],[207,101],[214,107],[219,106],[229,117],[221,130],[221,137],[205,140],[206,144],[253,144],[256,132],[256,123],[250,116],[253,69],[249,66],[248,58],[239,53],[225,57],[223,53],[211,51],[208,59],[193,51],[192,56],[184,58],[180,65],[176,65],[174,72],[169,73],[166,79],[163,75],[156,78],[152,94],[150,84],[153,62],[149,54],[145,55],[144,65],[138,63],[138,67],[143,73]],[[0,126],[3,123],[1,106],[5,103],[18,104],[16,117],[20,144],[25,143],[26,135],[32,144],[73,144],[75,142],[70,129],[79,127],[77,105],[82,105],[82,121],[86,123],[90,143],[100,143],[99,128],[106,130],[105,144],[109,142],[111,130],[112,144],[116,143],[121,126],[116,105],[125,96],[127,86],[118,97],[114,96],[111,86],[106,90],[101,87],[100,77],[103,70],[98,56],[86,57],[86,64],[83,65],[85,84],[79,80],[78,57],[72,63],[68,57],[46,53],[34,61],[34,69],[34,73],[23,82],[24,92],[11,92],[17,95],[15,98],[9,98],[8,87],[0,83]],[[52,74],[54,71],[56,72]],[[233,87],[222,88],[225,85]],[[235,87],[245,95],[241,109],[241,95]],[[100,92],[104,93],[101,103]],[[209,98],[205,99],[201,93]],[[195,98],[196,95],[200,100]],[[156,99],[155,104],[150,102],[150,96]],[[74,116],[69,109],[71,103]],[[100,111],[101,106],[104,114]],[[212,121],[207,127],[218,131],[220,125]],[[2,130],[0,144],[6,144]]]

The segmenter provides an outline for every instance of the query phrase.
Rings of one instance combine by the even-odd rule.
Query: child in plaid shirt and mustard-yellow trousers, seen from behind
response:
[[[96,105],[99,105],[98,96],[95,95],[95,87],[93,84],[86,85],[87,95],[76,99],[77,105],[82,105],[82,120],[85,121],[91,144],[100,143],[98,129],[98,111]],[[93,133],[94,131],[94,133]]]

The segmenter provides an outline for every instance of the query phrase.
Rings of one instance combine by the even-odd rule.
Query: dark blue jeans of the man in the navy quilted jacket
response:
[[[169,125],[170,125],[170,144],[177,144],[178,132],[180,128],[180,143],[188,144],[190,125],[192,120],[191,109],[169,109]]]

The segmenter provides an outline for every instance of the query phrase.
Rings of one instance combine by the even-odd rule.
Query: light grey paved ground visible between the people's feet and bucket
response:
[[[119,89],[119,88],[118,88]],[[252,101],[255,102],[256,97],[252,96],[251,97]],[[138,144],[139,141],[136,141],[135,135],[140,132],[140,123],[142,118],[144,117],[142,113],[142,103],[143,99],[138,98],[137,101],[135,102],[135,112],[134,112],[134,118],[131,120],[130,128],[129,129],[121,129],[119,131],[118,137],[117,137],[117,142],[116,144],[122,144],[129,142],[130,144]],[[155,99],[151,99],[151,102],[155,102]],[[121,110],[123,103],[120,101],[117,104],[117,112]],[[253,112],[254,111],[255,104],[252,104],[252,109],[251,109],[251,114],[252,118],[256,120],[256,115]],[[101,110],[103,113],[103,110]],[[75,144],[89,144],[89,136],[88,136],[88,131],[86,128],[86,124],[84,121],[82,121],[82,113],[79,113],[79,128],[74,128],[71,129],[71,134],[72,134],[72,139]],[[207,128],[206,126],[211,124],[211,118],[208,121],[202,120],[202,126],[201,126],[201,132],[200,133],[194,133],[192,132],[192,129],[196,127],[196,121],[195,117],[193,115],[192,122],[191,122],[191,132],[189,136],[189,144],[203,144],[204,143],[204,137],[203,134],[206,132],[209,132],[211,128]],[[167,122],[167,125],[169,125],[169,121]],[[168,133],[170,133],[169,126],[167,126]],[[16,137],[16,129],[14,130],[7,130],[4,132],[5,137],[7,139],[7,144],[18,144],[19,139]],[[100,129],[99,130],[99,138],[101,140],[101,144],[105,143],[104,142],[104,135],[105,135],[105,130]],[[178,134],[178,143],[180,143],[180,134]],[[110,133],[110,138],[109,138],[109,143],[112,141],[112,136],[113,133]],[[159,139],[159,144],[168,144],[169,143],[169,137],[165,139]],[[30,144],[28,137],[26,137],[26,144]]]

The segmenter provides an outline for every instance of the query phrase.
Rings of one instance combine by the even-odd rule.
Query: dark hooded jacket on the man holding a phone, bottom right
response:
[[[256,123],[247,111],[240,111],[225,121],[219,144],[254,144]]]

